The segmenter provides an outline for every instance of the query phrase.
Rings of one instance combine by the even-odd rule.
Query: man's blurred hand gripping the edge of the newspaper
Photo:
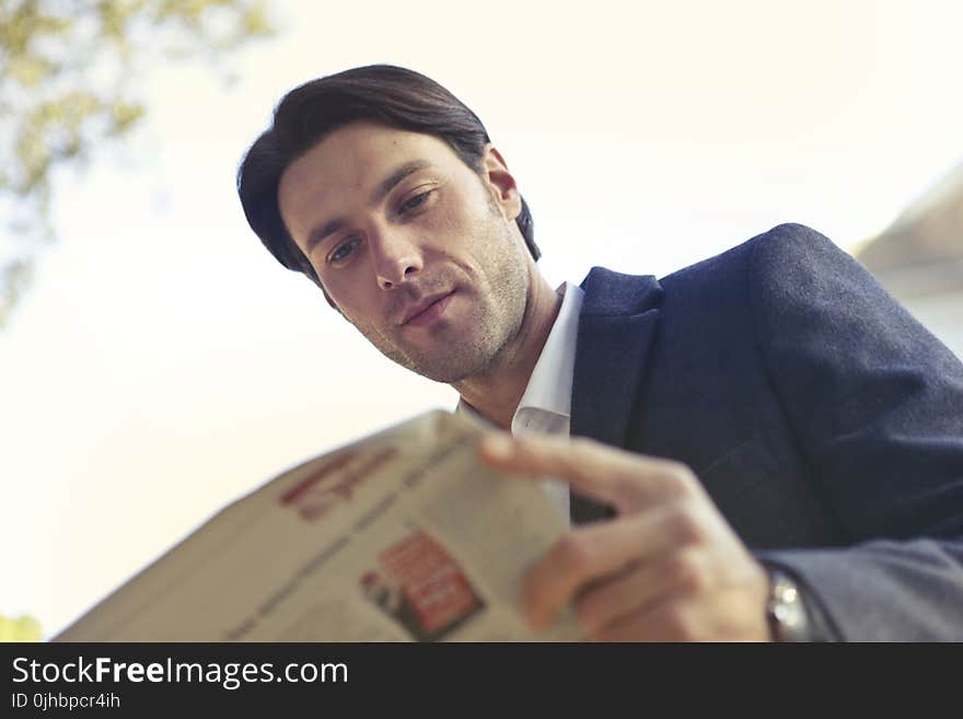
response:
[[[512,438],[478,445],[487,464],[550,476],[614,507],[573,529],[525,578],[535,629],[572,601],[599,641],[768,641],[768,578],[683,464],[588,439]]]

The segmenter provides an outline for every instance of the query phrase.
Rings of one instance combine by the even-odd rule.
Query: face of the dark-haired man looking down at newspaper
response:
[[[484,374],[530,287],[520,198],[433,136],[352,123],[295,160],[278,204],[330,300],[378,349],[438,382]]]

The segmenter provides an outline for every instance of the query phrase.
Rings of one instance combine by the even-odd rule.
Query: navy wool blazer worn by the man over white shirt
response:
[[[831,637],[963,640],[963,364],[859,263],[784,224],[582,289],[572,434],[687,464]]]

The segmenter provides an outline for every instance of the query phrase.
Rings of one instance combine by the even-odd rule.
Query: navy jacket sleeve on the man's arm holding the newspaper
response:
[[[963,364],[826,237],[750,262],[771,385],[847,544],[759,553],[848,641],[963,640]]]

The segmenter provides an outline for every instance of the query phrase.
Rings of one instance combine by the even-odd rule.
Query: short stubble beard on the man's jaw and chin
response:
[[[401,347],[376,327],[355,323],[358,330],[390,360],[434,382],[453,384],[494,374],[521,329],[529,301],[529,276],[524,250],[512,237],[504,218],[497,213],[488,227],[489,232],[479,232],[473,240],[480,243],[476,246],[490,248],[484,254],[484,277],[474,278],[473,287],[459,287],[461,299],[471,308],[461,333],[448,333],[442,327],[431,347],[425,348]],[[436,276],[430,282],[430,287],[421,286],[422,295],[450,289],[457,278]],[[451,337],[444,337],[446,334]]]

